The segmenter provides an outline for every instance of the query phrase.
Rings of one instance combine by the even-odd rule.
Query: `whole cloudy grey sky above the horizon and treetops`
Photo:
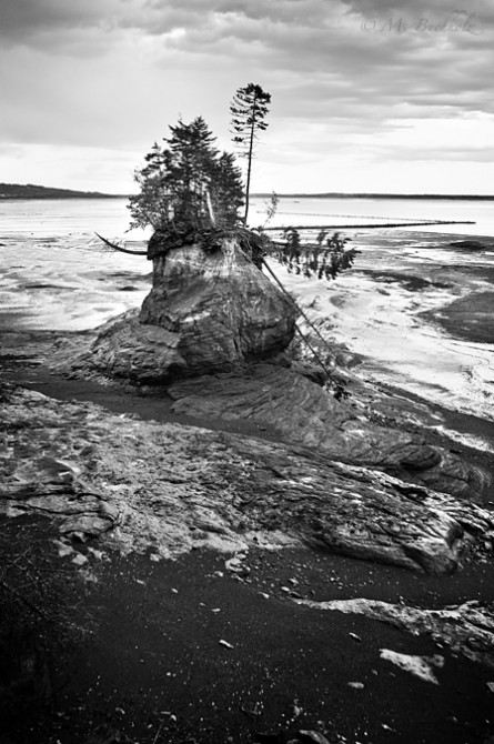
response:
[[[0,0],[0,182],[134,192],[253,82],[254,192],[494,194],[493,70],[493,0]]]

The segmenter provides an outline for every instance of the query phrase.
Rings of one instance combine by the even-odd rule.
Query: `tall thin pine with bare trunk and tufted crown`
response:
[[[261,86],[250,82],[245,88],[239,88],[230,105],[232,114],[233,142],[239,145],[241,153],[248,160],[248,173],[245,183],[245,212],[244,224],[249,215],[249,195],[251,189],[252,159],[254,157],[255,140],[258,132],[268,129],[264,121],[271,94],[262,90]]]

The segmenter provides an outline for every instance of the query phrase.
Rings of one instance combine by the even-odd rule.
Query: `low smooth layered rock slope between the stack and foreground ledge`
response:
[[[407,483],[476,500],[490,474],[404,430],[376,425],[290,369],[256,364],[242,375],[218,374],[168,389],[177,413],[248,420],[280,439],[313,448],[327,459],[382,470]]]

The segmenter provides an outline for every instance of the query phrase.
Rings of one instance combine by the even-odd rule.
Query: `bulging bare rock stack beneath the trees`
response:
[[[148,383],[232,370],[285,349],[295,318],[294,304],[234,238],[214,253],[184,245],[153,259],[141,312],[103,325],[85,361]]]

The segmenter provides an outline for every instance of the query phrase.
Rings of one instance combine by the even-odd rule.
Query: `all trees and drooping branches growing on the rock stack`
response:
[[[289,271],[304,277],[335,279],[353,264],[356,251],[345,250],[347,239],[334,233],[323,245],[321,232],[316,244],[302,245],[299,232],[286,228],[284,241],[273,242],[264,232],[246,228],[252,158],[256,133],[265,131],[264,121],[271,95],[260,86],[239,88],[230,107],[233,114],[233,141],[248,159],[245,195],[240,168],[234,155],[215,148],[215,138],[202,117],[191,123],[170,125],[164,145],[154,143],[145,163],[135,171],[140,192],[130,198],[131,228],[152,227],[148,258],[164,255],[183,245],[198,244],[205,253],[220,250],[225,238],[235,238],[258,268],[270,254]],[[245,202],[245,212],[240,208]],[[269,221],[275,213],[278,197],[273,193],[268,208]],[[114,247],[119,248],[119,247]]]

